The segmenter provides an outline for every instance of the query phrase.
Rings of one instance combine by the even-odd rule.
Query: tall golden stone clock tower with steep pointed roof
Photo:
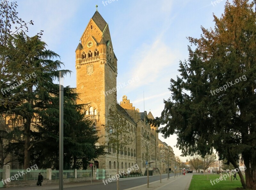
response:
[[[96,11],[86,26],[76,48],[77,104],[87,104],[86,115],[92,119],[103,145],[109,106],[116,102],[117,59],[113,51],[108,23]],[[108,93],[110,91],[112,93]],[[97,168],[106,168],[106,156],[99,157]]]

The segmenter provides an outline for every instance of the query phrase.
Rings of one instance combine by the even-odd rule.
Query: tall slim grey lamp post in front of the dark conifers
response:
[[[63,190],[63,72],[60,71],[60,142],[59,142],[59,189]]]

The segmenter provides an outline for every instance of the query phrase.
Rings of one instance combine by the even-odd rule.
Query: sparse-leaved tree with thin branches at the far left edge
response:
[[[9,0],[0,2],[0,113],[2,116],[20,102],[17,94],[7,90],[11,84],[21,80],[18,73],[20,64],[24,61],[24,59],[19,59],[17,62],[13,60],[13,57],[20,52],[20,49],[15,49],[13,46],[15,35],[20,32],[24,34],[28,31],[27,25],[33,25],[32,20],[27,23],[21,20],[17,16],[16,8],[16,2]]]

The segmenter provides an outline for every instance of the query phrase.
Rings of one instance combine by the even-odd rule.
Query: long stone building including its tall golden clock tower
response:
[[[77,104],[87,104],[86,115],[93,120],[99,130],[100,141],[96,145],[106,145],[105,137],[107,123],[105,115],[112,104],[116,104],[117,58],[113,50],[108,23],[96,11],[89,20],[76,48],[76,92],[80,94]],[[150,126],[146,118],[154,118],[152,113],[140,112],[133,107],[127,96],[117,105],[119,114],[126,118],[130,128],[131,143],[123,147],[119,156],[119,168],[125,170],[138,164],[139,171],[146,170],[148,160],[149,170],[156,172],[159,168],[159,139],[157,128]],[[116,150],[108,145],[110,154],[100,156],[94,162],[94,169],[106,169],[107,175],[116,173]],[[148,152],[147,152],[148,147]],[[173,152],[173,151],[172,151]],[[148,157],[148,158],[147,158]],[[158,170],[159,171],[159,170]]]

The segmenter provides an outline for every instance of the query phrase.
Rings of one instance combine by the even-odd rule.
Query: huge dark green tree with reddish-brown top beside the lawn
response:
[[[164,137],[177,134],[183,155],[212,154],[236,168],[241,156],[244,188],[256,188],[256,12],[255,2],[226,3],[214,29],[202,27],[199,39],[189,37],[189,60],[180,62],[180,75],[171,79],[170,99],[154,121]]]

